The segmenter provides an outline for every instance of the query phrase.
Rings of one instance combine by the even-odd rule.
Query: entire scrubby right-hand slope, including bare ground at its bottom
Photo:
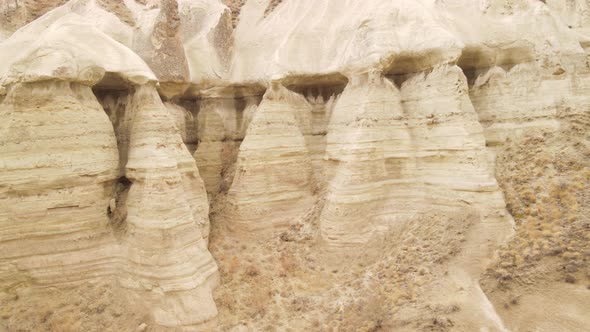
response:
[[[590,309],[590,112],[565,109],[561,120],[560,131],[529,132],[498,155],[516,233],[483,280],[514,326],[583,331],[569,317]]]

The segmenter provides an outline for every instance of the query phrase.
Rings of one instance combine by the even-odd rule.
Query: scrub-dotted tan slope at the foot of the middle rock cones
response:
[[[364,248],[326,251],[296,227],[272,241],[214,227],[211,251],[222,274],[215,292],[223,331],[446,331],[457,305],[423,291],[462,250],[470,214],[431,214]],[[396,315],[404,307],[405,319]],[[405,329],[404,329],[405,328]]]

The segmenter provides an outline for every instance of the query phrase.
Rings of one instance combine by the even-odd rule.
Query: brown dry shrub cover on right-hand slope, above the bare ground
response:
[[[590,253],[590,114],[563,120],[563,131],[531,132],[508,143],[496,159],[496,177],[516,223],[515,236],[488,271],[500,286],[545,278],[538,273],[544,264],[552,267],[543,270],[564,271],[589,263],[590,255],[581,253]],[[561,280],[576,278],[561,273]]]

